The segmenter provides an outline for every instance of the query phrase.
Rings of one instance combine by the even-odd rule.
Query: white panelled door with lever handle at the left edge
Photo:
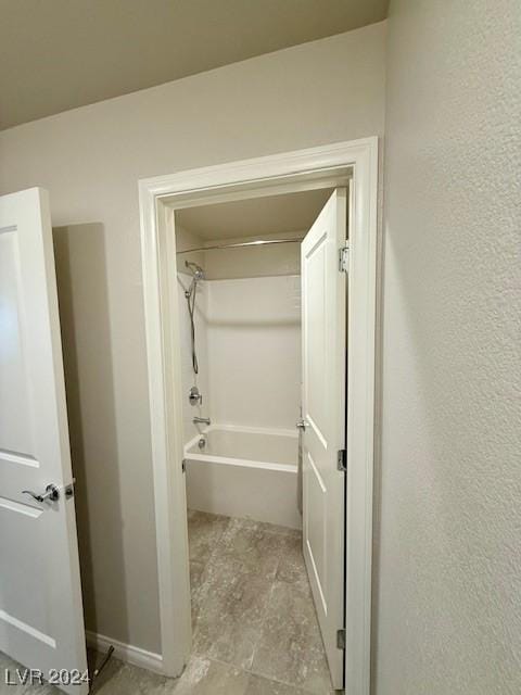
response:
[[[49,200],[33,188],[0,198],[0,652],[46,679],[66,669],[79,681],[87,661],[72,482]],[[24,493],[50,484],[55,501]],[[88,691],[65,673],[59,680],[68,693]]]

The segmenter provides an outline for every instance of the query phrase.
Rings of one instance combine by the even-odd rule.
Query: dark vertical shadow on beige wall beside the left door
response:
[[[104,233],[101,224],[71,225],[54,228],[53,241],[86,629],[126,635]]]

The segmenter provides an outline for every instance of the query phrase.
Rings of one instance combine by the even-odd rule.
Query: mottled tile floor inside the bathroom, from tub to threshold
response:
[[[302,534],[201,511],[188,523],[193,654],[255,674],[241,693],[329,693]]]

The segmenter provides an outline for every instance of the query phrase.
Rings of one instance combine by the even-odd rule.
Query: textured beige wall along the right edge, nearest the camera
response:
[[[520,5],[397,0],[387,28],[374,691],[513,695]]]

